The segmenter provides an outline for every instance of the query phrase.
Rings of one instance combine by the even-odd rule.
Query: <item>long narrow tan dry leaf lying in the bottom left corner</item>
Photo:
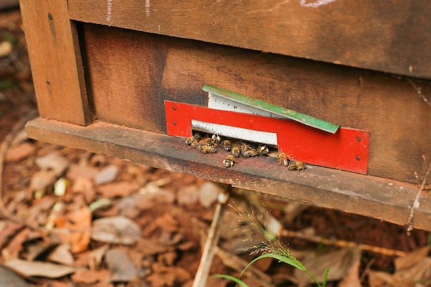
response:
[[[24,277],[40,276],[59,278],[75,272],[70,266],[52,264],[46,262],[26,261],[13,259],[5,263],[5,266],[23,275]]]

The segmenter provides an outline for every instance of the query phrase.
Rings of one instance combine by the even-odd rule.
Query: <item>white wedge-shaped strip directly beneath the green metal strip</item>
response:
[[[223,98],[222,96],[218,96],[213,93],[208,93],[208,107],[211,109],[221,109],[222,111],[237,111],[238,113],[255,114],[258,116],[268,116],[270,118],[282,118],[287,120],[286,117],[272,114],[269,111],[264,111],[257,107],[243,105],[234,100],[229,100],[229,98]]]

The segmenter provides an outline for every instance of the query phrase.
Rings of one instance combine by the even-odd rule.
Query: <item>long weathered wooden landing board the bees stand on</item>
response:
[[[103,153],[151,167],[231,184],[307,202],[375,217],[395,224],[406,224],[416,196],[416,184],[407,184],[347,171],[309,166],[289,172],[275,158],[238,159],[232,168],[222,167],[227,153],[203,155],[172,136],[96,122],[87,127],[42,118],[28,123],[30,138]],[[431,201],[421,198],[414,227],[431,231]]]

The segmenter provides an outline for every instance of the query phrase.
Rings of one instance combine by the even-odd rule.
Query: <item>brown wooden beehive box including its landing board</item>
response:
[[[21,12],[30,137],[406,224],[431,160],[431,2],[21,0]],[[202,156],[168,135],[165,101],[207,107],[207,84],[365,131],[365,174]],[[414,226],[430,222],[425,191]]]

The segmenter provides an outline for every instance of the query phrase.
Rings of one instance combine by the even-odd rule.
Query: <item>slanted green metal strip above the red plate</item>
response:
[[[213,87],[211,85],[204,85],[202,89],[205,92],[216,94],[218,96],[227,98],[229,100],[233,100],[243,105],[249,105],[251,107],[256,107],[264,111],[269,111],[273,114],[284,116],[291,120],[296,120],[297,122],[303,123],[304,125],[315,127],[316,129],[322,129],[322,131],[328,131],[332,134],[335,134],[335,132],[339,128],[339,125],[328,123],[326,122],[326,120],[319,120],[318,118],[313,118],[312,116],[307,116],[305,114],[298,113],[297,111],[293,111],[291,109],[285,109],[284,107],[277,107],[276,105],[266,103],[262,100],[255,100],[254,98],[249,98],[248,96],[231,92],[231,91],[228,91],[227,89],[221,89],[219,87]]]

